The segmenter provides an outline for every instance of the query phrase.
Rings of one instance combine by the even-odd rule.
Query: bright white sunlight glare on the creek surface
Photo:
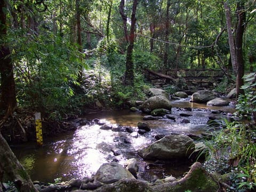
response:
[[[109,123],[106,120],[104,122]],[[126,146],[118,145],[119,143],[114,141],[116,137],[129,139],[131,143],[126,143],[126,145],[130,145],[129,150],[137,150],[145,143],[150,142],[149,139],[142,136],[130,138],[129,133],[100,130],[100,125],[82,126],[74,133],[73,142],[67,151],[67,154],[75,159],[74,162],[70,162],[71,166],[77,167],[72,174],[79,178],[90,177],[103,163],[111,162],[114,159],[120,164],[124,164],[127,158],[123,155],[114,156],[112,152],[117,149],[127,150],[124,149]]]

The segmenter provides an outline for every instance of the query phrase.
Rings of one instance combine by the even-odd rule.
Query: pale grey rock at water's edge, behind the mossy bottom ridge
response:
[[[124,178],[135,179],[128,170],[116,162],[101,165],[94,176],[95,181],[102,183],[114,183]]]

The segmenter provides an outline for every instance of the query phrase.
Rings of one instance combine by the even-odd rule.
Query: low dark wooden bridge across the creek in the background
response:
[[[221,69],[167,69],[165,71],[153,71],[146,69],[148,79],[165,79],[166,83],[175,83],[179,77],[185,81],[197,81],[198,83],[217,81],[220,82],[225,75]]]

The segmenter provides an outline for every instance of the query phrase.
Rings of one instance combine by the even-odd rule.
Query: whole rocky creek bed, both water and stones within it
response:
[[[160,110],[159,114],[156,114],[156,111],[151,113],[154,109],[150,109],[147,111],[149,114],[143,113],[144,110],[125,110],[87,115],[85,118],[74,120],[78,126],[74,133],[60,135],[55,141],[46,140],[42,148],[29,143],[21,147],[13,146],[13,150],[29,171],[31,178],[40,181],[37,185],[41,190],[45,189],[41,182],[53,182],[56,178],[62,178],[76,183],[62,183],[63,188],[73,186],[96,189],[102,186],[102,183],[117,183],[116,181],[121,179],[118,185],[125,185],[125,182],[131,182],[133,185],[140,183],[141,186],[146,185],[148,191],[154,191],[151,190],[152,186],[148,185],[165,183],[166,178],[181,182],[179,179],[183,178],[183,174],[189,171],[195,161],[190,155],[198,143],[197,140],[207,135],[209,129],[213,131],[220,128],[207,125],[209,120],[218,125],[221,118],[232,118],[230,112],[234,109],[230,106],[211,107],[191,103],[189,100],[190,98],[172,101],[172,107],[166,109],[162,106],[161,109],[165,110]],[[178,144],[171,142],[174,140],[177,140]],[[98,172],[102,173],[99,171],[102,165],[110,168],[122,167],[121,170],[117,169],[118,174],[107,169],[103,175],[126,173],[128,169],[122,169],[131,166],[127,161],[134,165],[129,172],[132,181],[127,179],[129,177],[126,175],[124,178],[110,178],[110,181],[102,182],[99,179],[101,176],[97,176]],[[196,167],[203,170],[198,164]],[[204,175],[207,177],[207,174]],[[137,180],[133,181],[133,177]],[[82,183],[84,187],[81,187]]]

